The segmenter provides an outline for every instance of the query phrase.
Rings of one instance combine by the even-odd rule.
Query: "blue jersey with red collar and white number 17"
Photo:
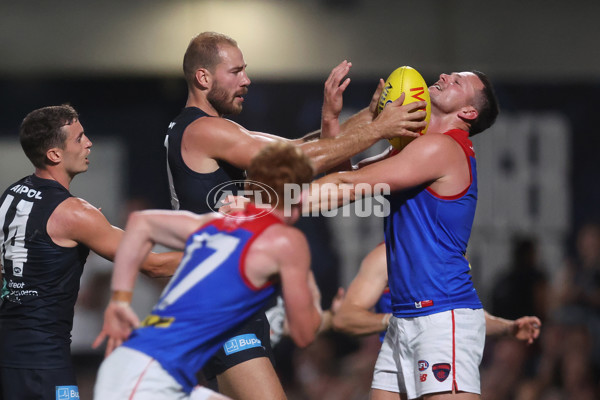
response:
[[[235,218],[212,220],[194,232],[151,315],[123,343],[156,359],[186,392],[196,384],[196,371],[276,292],[270,283],[255,287],[246,277],[250,245],[266,228],[282,223],[257,213],[249,205]],[[225,352],[259,345],[248,334]]]

